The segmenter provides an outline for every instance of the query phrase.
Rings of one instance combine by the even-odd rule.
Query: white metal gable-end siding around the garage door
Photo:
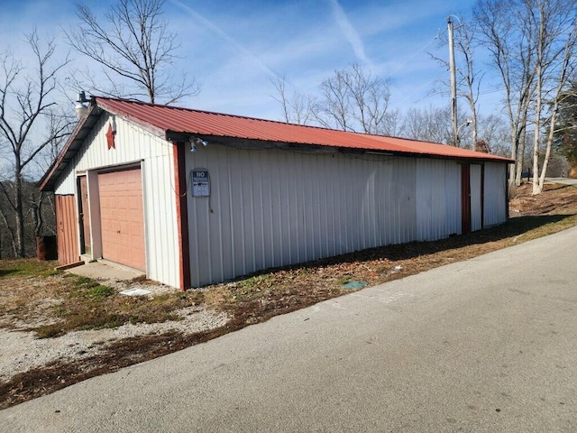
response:
[[[76,191],[78,171],[140,162],[146,237],[147,276],[179,287],[179,235],[176,216],[173,145],[116,117],[115,149],[105,133],[111,117],[103,115],[56,184],[56,194]]]

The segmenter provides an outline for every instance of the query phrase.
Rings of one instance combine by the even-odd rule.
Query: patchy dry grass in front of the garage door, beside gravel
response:
[[[34,259],[1,263],[0,327],[47,338],[127,323],[179,320],[176,310],[196,306],[203,298],[195,291],[152,299],[126,297],[87,277],[54,272],[55,264]]]

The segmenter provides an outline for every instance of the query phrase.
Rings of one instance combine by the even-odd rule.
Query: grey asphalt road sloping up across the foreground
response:
[[[575,432],[577,228],[0,411],[2,432]]]

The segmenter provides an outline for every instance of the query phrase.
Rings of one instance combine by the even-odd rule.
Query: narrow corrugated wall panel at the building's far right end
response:
[[[484,226],[507,221],[507,164],[485,162]]]

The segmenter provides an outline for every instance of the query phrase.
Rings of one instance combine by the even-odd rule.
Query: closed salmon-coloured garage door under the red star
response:
[[[141,169],[98,174],[102,256],[146,271]]]

